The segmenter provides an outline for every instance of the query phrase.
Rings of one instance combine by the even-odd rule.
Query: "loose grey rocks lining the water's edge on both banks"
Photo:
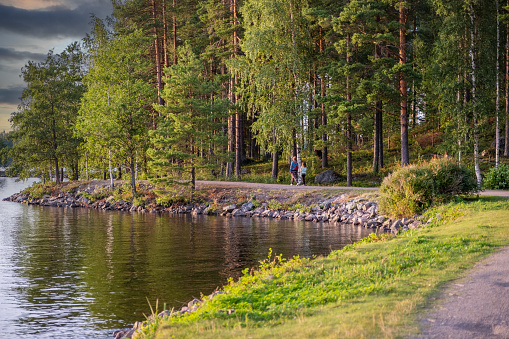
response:
[[[374,233],[398,234],[408,229],[421,228],[422,221],[415,218],[391,219],[379,214],[376,194],[365,194],[352,197],[342,193],[319,201],[313,206],[301,206],[299,209],[290,210],[274,208],[270,201],[249,200],[242,204],[225,202],[221,205],[208,203],[183,204],[178,203],[169,207],[151,204],[150,206],[136,206],[129,201],[117,200],[113,195],[91,200],[91,196],[97,192],[105,191],[108,185],[83,186],[76,188],[73,192],[60,190],[51,195],[44,195],[42,198],[35,198],[28,193],[16,193],[4,199],[28,205],[53,206],[62,208],[93,208],[104,211],[124,211],[131,213],[162,213],[162,214],[192,214],[192,215],[217,215],[223,217],[245,217],[245,218],[272,218],[291,219],[307,222],[327,222],[331,224],[352,224],[358,227],[372,229]],[[275,204],[277,205],[277,204]],[[272,208],[271,208],[272,207]],[[279,206],[277,206],[279,207]],[[194,299],[186,306],[175,311],[163,311],[157,315],[164,318],[173,315],[191,313],[206,300],[211,300],[215,295],[222,293],[216,291],[203,300]],[[225,310],[232,313],[234,310]],[[154,321],[154,316],[148,321]],[[132,338],[137,331],[145,326],[144,322],[136,322],[132,328],[117,330],[113,333],[115,339]]]

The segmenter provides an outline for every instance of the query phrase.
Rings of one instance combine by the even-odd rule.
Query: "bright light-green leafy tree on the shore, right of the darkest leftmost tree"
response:
[[[87,92],[75,132],[85,140],[88,158],[96,165],[129,164],[135,195],[135,162],[147,146],[148,106],[154,94],[144,57],[149,42],[140,30],[108,36],[101,22],[95,29],[95,39],[89,42]]]

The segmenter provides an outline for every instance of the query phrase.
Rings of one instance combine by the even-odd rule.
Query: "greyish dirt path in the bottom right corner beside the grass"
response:
[[[450,284],[418,338],[509,338],[509,247]]]

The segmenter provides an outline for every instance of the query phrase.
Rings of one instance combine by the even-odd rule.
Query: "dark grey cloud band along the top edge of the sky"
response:
[[[100,3],[86,3],[75,9],[51,6],[32,10],[0,5],[0,31],[38,38],[82,38],[90,31],[91,15],[104,15],[106,10]]]

